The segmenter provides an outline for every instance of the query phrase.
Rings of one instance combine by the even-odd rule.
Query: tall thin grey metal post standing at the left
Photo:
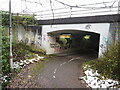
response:
[[[9,0],[9,32],[10,32],[10,68],[13,68],[13,55],[12,55],[12,13],[11,13],[11,0]]]

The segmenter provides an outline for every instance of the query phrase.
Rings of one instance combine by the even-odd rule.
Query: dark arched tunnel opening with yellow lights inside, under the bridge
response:
[[[94,53],[98,56],[100,34],[80,30],[49,32],[53,53]]]

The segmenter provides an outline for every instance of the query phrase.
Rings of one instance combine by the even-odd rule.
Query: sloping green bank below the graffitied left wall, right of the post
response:
[[[35,45],[26,45],[23,42],[13,43],[13,57],[14,61],[35,58],[36,55],[44,55],[45,51],[38,49]]]

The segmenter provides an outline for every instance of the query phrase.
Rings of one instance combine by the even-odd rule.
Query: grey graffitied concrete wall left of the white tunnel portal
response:
[[[38,34],[38,29],[27,28],[19,25],[13,29],[13,40],[16,42],[23,41],[26,44],[35,44],[41,47],[41,34]]]

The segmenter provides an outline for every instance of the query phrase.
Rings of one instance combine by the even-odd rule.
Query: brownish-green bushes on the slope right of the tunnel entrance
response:
[[[110,45],[103,57],[85,64],[90,65],[90,68],[98,70],[106,78],[120,81],[120,42]]]

